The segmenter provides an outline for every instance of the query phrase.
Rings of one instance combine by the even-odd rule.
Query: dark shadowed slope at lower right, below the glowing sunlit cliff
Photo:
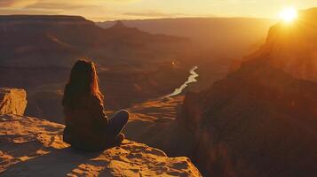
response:
[[[209,173],[219,169],[206,164],[222,161],[222,173],[314,176],[316,96],[315,82],[295,79],[266,61],[246,62],[211,89],[186,96],[180,121],[192,127],[195,141],[182,155]],[[193,151],[210,153],[195,158]]]

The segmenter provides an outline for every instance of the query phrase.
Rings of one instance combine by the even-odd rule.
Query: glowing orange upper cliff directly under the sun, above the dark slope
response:
[[[317,81],[317,8],[300,11],[297,21],[270,28],[265,44],[243,60],[265,57],[296,78]],[[233,66],[236,69],[241,62]]]

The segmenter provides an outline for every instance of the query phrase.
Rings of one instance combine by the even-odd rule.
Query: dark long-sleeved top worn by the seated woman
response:
[[[78,105],[78,106],[77,106]],[[64,141],[82,150],[102,149],[107,145],[108,119],[97,96],[81,96],[75,109],[64,106]]]

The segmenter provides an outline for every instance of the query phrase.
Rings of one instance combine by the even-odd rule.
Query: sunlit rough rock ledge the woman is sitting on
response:
[[[0,117],[1,176],[201,176],[189,158],[125,140],[101,152],[72,150],[63,125],[17,115]]]

